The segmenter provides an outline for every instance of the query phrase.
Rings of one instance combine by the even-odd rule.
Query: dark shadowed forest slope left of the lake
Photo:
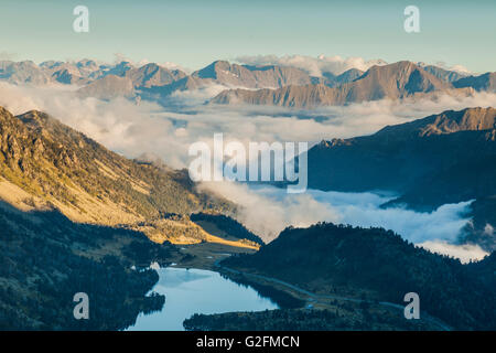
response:
[[[164,304],[163,296],[147,297],[159,276],[140,266],[166,265],[173,252],[141,233],[1,203],[0,330],[125,329]],[[89,320],[73,315],[76,292],[89,297]]]

